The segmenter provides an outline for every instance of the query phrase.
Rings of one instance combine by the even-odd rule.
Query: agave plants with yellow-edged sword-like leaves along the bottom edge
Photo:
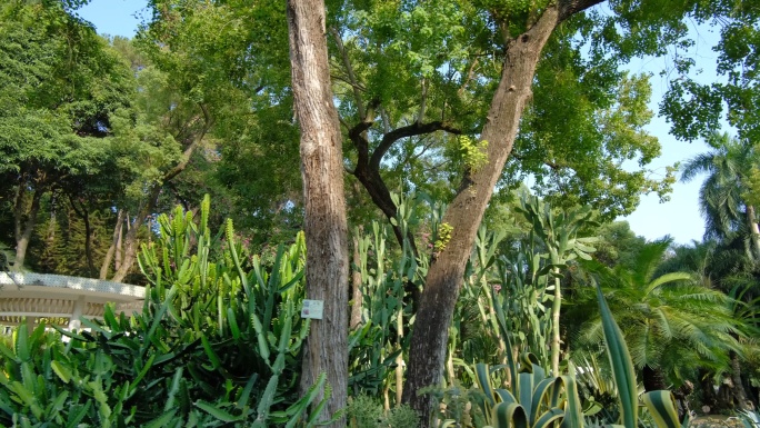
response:
[[[620,402],[619,425],[613,425],[613,427],[637,428],[640,406],[633,362],[622,331],[614,321],[599,288],[598,300],[603,337]],[[503,317],[503,311],[497,310],[497,316]],[[500,325],[504,324],[500,322]],[[509,344],[509,336],[504,335],[504,340]],[[511,352],[508,352],[508,356],[510,355]],[[444,420],[442,426],[456,426],[467,421],[469,425],[466,426],[478,428],[584,427],[587,422],[581,409],[572,366],[568,375],[547,376],[537,362],[534,356],[523,354],[519,360],[510,357],[506,366],[493,369],[484,364],[476,365],[476,385],[482,394],[467,395],[470,405],[469,415],[460,416],[459,420]],[[507,371],[509,376],[499,376],[502,371]],[[510,381],[506,382],[506,379]],[[688,420],[684,420],[683,425],[679,422],[674,399],[670,391],[647,392],[641,396],[641,401],[658,428],[688,425]]]

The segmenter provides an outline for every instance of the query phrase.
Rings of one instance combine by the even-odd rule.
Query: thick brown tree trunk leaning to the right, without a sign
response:
[[[501,81],[481,139],[488,141],[486,165],[468,171],[442,223],[451,228],[451,239],[432,260],[421,296],[411,338],[404,398],[430,426],[433,402],[430,396],[418,396],[427,386],[441,380],[448,328],[462,285],[464,267],[493,187],[512,150],[520,118],[532,96],[531,84],[541,50],[560,19],[556,7],[549,7],[538,22],[507,47]]]

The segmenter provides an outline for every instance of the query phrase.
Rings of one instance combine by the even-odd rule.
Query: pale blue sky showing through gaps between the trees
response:
[[[92,22],[99,33],[132,37],[142,14],[146,13],[144,8],[144,0],[91,0],[88,6],[79,10],[79,16]],[[709,81],[714,79],[716,54],[710,48],[717,37],[707,28],[694,31],[698,42],[692,53],[698,61],[697,69],[704,68],[700,77]],[[657,106],[667,89],[667,79],[660,78],[659,73],[668,69],[668,60],[636,60],[628,68],[631,72],[653,74],[650,108],[657,112]],[[654,173],[658,171],[664,173],[667,166],[707,151],[707,146],[700,141],[691,143],[677,141],[668,133],[669,129],[664,119],[658,117],[647,127],[647,130],[658,137],[662,145],[662,156],[650,165]],[[703,177],[697,177],[690,183],[676,183],[670,201],[664,203],[659,202],[657,195],[642,197],[636,212],[622,220],[627,220],[637,235],[650,240],[664,235],[672,236],[679,243],[701,240],[704,233],[704,223],[699,213],[699,187],[702,179]]]

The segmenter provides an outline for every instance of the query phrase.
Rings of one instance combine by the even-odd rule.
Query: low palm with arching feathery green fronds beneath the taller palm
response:
[[[656,275],[671,241],[648,242],[630,266],[586,265],[602,286],[647,390],[681,384],[698,368],[728,367],[729,352],[740,348],[732,299],[690,272]],[[582,329],[584,347],[602,344],[601,322],[594,318]]]

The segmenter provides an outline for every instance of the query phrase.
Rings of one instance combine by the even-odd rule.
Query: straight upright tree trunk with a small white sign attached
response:
[[[327,415],[347,405],[348,225],[340,123],[332,103],[323,0],[288,0],[293,108],[301,128],[307,298],[324,302],[306,340],[301,391],[326,372],[332,387]],[[331,426],[346,427],[341,418]]]

